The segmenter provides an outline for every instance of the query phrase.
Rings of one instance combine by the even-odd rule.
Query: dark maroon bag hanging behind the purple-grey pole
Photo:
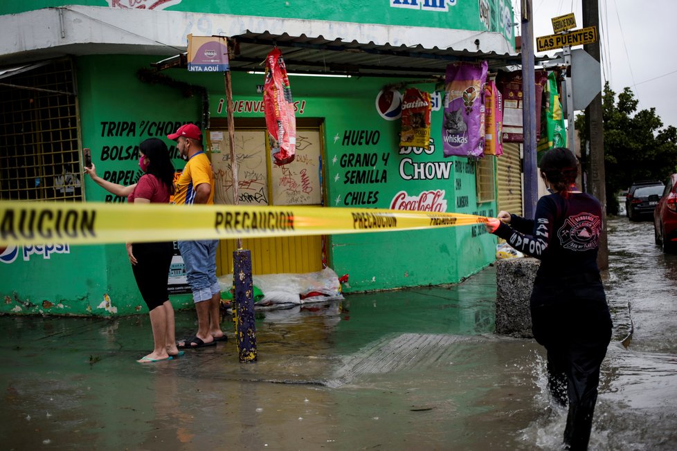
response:
[[[534,73],[536,106],[536,141],[541,136],[541,98],[543,86],[548,80],[545,71]],[[522,131],[522,71],[500,72],[496,77],[496,86],[503,96],[503,142],[524,142]]]

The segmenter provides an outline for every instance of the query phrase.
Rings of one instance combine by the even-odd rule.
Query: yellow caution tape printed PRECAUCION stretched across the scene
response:
[[[473,214],[251,205],[0,202],[0,246],[392,232],[485,223]]]

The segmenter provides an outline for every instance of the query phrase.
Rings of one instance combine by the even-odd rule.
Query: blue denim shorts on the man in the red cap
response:
[[[221,292],[216,278],[217,239],[177,241],[183,264],[186,264],[186,279],[192,291],[193,302],[208,301]]]

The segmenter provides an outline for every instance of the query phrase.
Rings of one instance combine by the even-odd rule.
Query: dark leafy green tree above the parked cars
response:
[[[665,180],[677,169],[677,129],[663,128],[656,109],[637,111],[638,100],[630,88],[616,96],[608,82],[602,95],[606,210],[618,213],[617,195],[634,180]],[[589,141],[584,115],[576,118],[581,149]],[[585,160],[584,160],[585,165]]]

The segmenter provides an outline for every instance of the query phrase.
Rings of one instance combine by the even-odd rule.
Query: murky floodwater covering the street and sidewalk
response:
[[[590,450],[675,450],[677,256],[649,222],[608,226],[615,328]],[[487,268],[455,286],[260,311],[258,362],[244,365],[232,340],[136,363],[147,315],[0,317],[1,448],[559,449],[566,412],[548,398],[543,349],[492,333],[495,284]],[[177,314],[179,335],[194,327]]]

